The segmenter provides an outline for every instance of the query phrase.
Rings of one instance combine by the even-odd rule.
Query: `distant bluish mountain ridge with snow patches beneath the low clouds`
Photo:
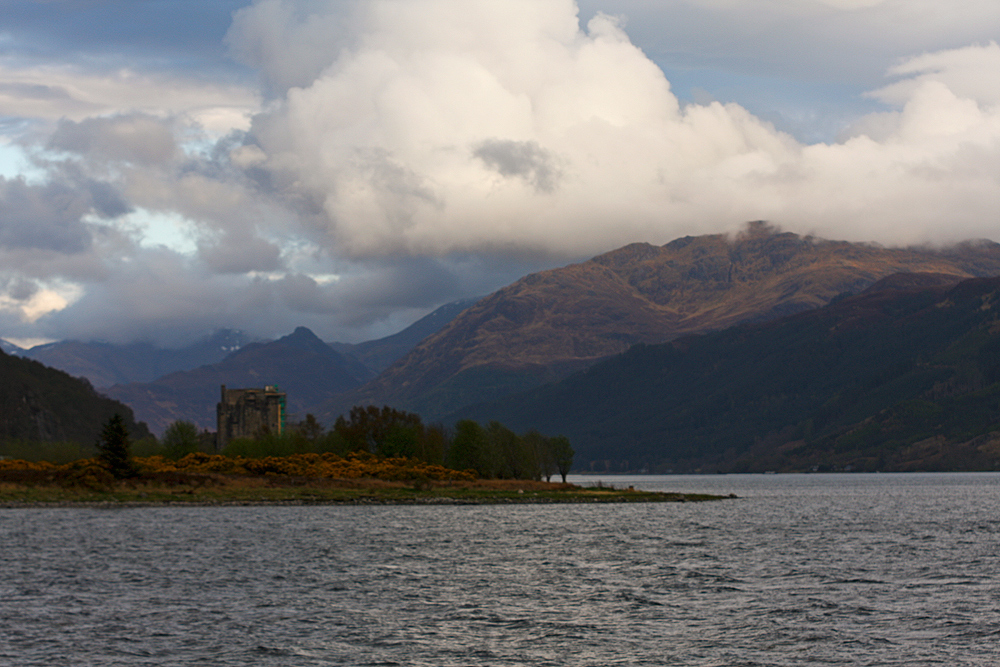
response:
[[[174,371],[214,364],[250,340],[241,331],[222,329],[176,350],[149,343],[115,345],[62,341],[37,345],[20,355],[75,377],[85,377],[95,387],[110,387],[129,382],[149,382]]]

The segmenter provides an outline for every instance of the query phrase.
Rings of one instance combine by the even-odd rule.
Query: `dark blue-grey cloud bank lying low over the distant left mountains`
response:
[[[114,280],[90,283],[81,298],[30,330],[15,322],[6,330],[15,337],[30,331],[61,339],[180,345],[223,327],[273,338],[306,326],[324,340],[360,342],[395,333],[443,301],[478,295],[468,293],[462,281],[471,274],[483,280],[482,268],[475,260],[397,259],[345,264],[339,280],[321,282],[301,273],[247,280],[163,247],[138,249],[131,261],[115,267]],[[0,325],[3,316],[0,312]]]

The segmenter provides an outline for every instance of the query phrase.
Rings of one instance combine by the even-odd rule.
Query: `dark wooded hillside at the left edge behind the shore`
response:
[[[149,435],[132,410],[86,381],[0,352],[0,443],[72,441],[90,447],[115,413],[134,439]]]

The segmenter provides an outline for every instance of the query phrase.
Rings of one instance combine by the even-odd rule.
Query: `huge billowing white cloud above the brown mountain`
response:
[[[350,33],[340,3],[306,19],[292,6],[245,10],[231,43],[281,52],[326,15]],[[340,252],[578,255],[757,218],[883,243],[995,234],[995,44],[899,65],[876,93],[897,112],[803,145],[735,104],[682,106],[615,19],[581,29],[571,0],[378,0],[349,16],[325,66],[280,60],[283,80],[315,78],[252,129],[261,166],[322,203]]]

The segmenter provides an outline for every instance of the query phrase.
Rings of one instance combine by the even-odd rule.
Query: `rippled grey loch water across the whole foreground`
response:
[[[1000,474],[710,503],[0,510],[0,664],[996,665]]]

